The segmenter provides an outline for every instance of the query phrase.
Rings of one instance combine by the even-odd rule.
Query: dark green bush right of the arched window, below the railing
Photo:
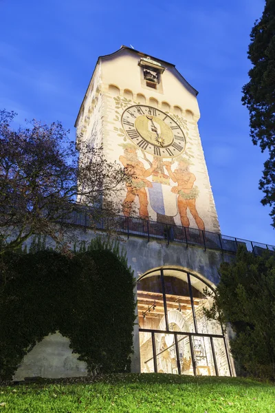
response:
[[[236,260],[223,262],[210,319],[230,323],[230,341],[239,372],[275,379],[275,255],[254,257],[240,246]]]

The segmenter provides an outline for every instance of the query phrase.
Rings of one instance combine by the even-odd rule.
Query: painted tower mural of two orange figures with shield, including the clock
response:
[[[197,208],[200,195],[197,176],[192,171],[195,156],[186,140],[186,121],[116,96],[113,142],[118,160],[129,171],[122,200],[122,213],[167,224],[198,229],[205,224]]]

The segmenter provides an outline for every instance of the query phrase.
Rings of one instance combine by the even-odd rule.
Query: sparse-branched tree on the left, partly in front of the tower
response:
[[[124,169],[107,162],[102,149],[90,142],[83,142],[79,160],[69,131],[59,122],[32,120],[12,129],[15,115],[0,111],[0,253],[19,248],[34,234],[62,244],[64,222],[76,200],[100,207],[93,209],[94,219],[118,213]]]

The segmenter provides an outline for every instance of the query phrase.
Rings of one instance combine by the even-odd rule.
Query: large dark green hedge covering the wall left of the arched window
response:
[[[34,248],[32,248],[33,251]],[[0,378],[11,379],[36,342],[59,330],[89,372],[130,369],[134,279],[118,245],[8,254],[1,264]]]

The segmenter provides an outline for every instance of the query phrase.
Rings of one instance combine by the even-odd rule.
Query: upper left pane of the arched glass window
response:
[[[137,310],[140,328],[166,330],[159,273],[146,276],[137,283]]]

